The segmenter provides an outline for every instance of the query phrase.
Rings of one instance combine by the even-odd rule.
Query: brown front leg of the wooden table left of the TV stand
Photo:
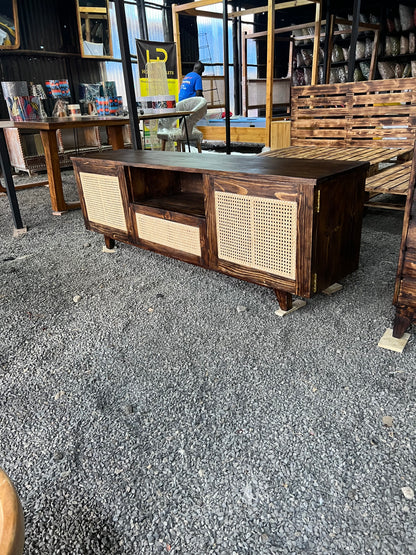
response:
[[[48,172],[49,194],[51,196],[52,212],[60,215],[67,210],[80,208],[79,202],[65,202],[62,189],[61,167],[59,165],[58,142],[56,131],[41,130],[43,149],[45,151],[46,171]]]

